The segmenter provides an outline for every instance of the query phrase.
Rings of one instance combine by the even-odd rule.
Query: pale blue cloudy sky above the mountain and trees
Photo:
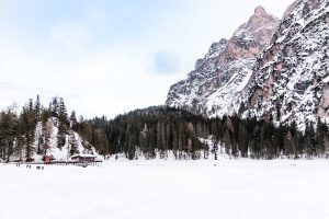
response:
[[[211,44],[286,0],[0,0],[0,108],[63,96],[86,117],[163,104]]]

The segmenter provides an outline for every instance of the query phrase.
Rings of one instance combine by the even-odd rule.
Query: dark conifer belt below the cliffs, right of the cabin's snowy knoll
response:
[[[105,117],[90,120],[93,129],[103,130],[109,154],[124,153],[128,159],[156,154],[177,159],[206,159],[218,151],[231,157],[253,159],[293,159],[328,157],[328,126],[318,120],[300,132],[296,124],[274,126],[272,119],[241,119],[238,116],[206,118],[167,106],[137,110],[107,122]],[[201,139],[212,139],[212,148]],[[106,145],[107,143],[107,145]]]

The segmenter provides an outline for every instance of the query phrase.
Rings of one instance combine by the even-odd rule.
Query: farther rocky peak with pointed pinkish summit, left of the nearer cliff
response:
[[[269,44],[280,21],[262,7],[230,39],[214,43],[188,79],[172,85],[166,104],[207,115],[232,114],[251,77],[259,53]]]

